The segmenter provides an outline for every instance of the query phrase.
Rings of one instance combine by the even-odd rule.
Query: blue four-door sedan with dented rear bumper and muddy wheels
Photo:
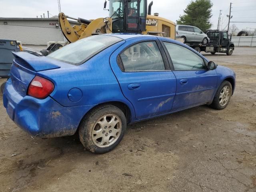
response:
[[[47,57],[14,53],[3,94],[10,118],[42,138],[73,135],[91,152],[112,150],[126,124],[194,106],[224,109],[235,74],[158,36],[104,34]]]

